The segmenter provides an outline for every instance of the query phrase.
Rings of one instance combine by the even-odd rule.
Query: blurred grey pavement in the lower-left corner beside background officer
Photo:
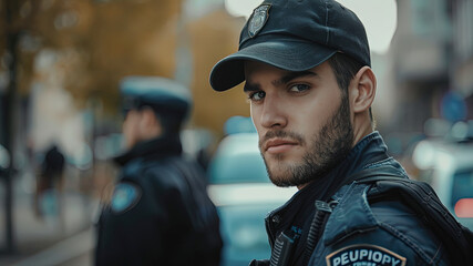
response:
[[[93,215],[97,203],[86,195],[65,191],[62,226],[59,219],[40,219],[34,214],[33,195],[19,190],[13,200],[14,252],[0,254],[0,265],[92,265]],[[2,196],[2,194],[0,194]],[[0,248],[4,247],[4,217],[0,207]]]

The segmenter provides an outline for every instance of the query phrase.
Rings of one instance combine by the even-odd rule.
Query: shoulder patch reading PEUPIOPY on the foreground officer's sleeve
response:
[[[326,257],[328,266],[405,266],[407,259],[384,247],[357,244]]]

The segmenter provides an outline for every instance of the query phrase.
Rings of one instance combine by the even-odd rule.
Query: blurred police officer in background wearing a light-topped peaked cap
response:
[[[216,208],[179,130],[191,95],[178,83],[128,76],[121,83],[127,152],[97,224],[96,265],[218,265]]]

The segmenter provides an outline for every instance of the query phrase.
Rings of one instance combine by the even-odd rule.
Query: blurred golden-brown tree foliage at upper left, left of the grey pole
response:
[[[79,105],[95,96],[105,108],[115,106],[123,75],[173,74],[169,50],[175,47],[175,30],[169,24],[181,1],[4,0],[7,4],[11,24],[1,27],[1,33],[14,32],[18,38],[21,94],[28,94],[32,80],[39,78],[34,58],[45,49],[65,59],[61,60],[63,85]],[[0,52],[4,57],[4,44]]]

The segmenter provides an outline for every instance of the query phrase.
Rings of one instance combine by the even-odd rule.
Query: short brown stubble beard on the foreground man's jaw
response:
[[[350,152],[353,145],[353,127],[350,122],[350,105],[343,93],[340,108],[333,116],[316,133],[309,145],[304,137],[294,132],[269,132],[265,137],[291,137],[308,150],[300,163],[285,165],[284,155],[275,156],[275,171],[271,171],[263,155],[269,178],[277,186],[301,186],[327,175]]]

